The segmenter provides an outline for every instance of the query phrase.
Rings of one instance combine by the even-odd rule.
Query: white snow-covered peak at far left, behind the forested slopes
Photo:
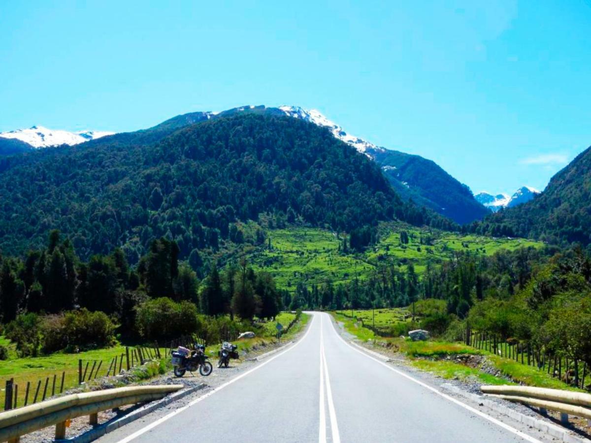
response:
[[[48,129],[43,126],[31,126],[28,129],[0,132],[2,139],[15,139],[33,146],[33,148],[47,148],[48,146],[77,145],[89,140],[97,139],[105,135],[111,135],[108,131],[79,131],[68,132],[60,129]]]

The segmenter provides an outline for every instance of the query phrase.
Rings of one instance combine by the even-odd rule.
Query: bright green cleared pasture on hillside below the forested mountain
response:
[[[401,245],[400,232],[408,233],[409,243]],[[394,261],[402,266],[413,262],[418,273],[424,272],[427,263],[440,263],[463,250],[476,255],[492,255],[501,249],[541,247],[543,243],[525,239],[493,239],[476,235],[419,229],[404,223],[382,223],[378,229],[378,243],[363,253],[344,255],[339,252],[342,238],[329,230],[290,227],[268,230],[271,241],[246,253],[256,270],[270,272],[279,288],[290,291],[297,282],[308,285],[324,281],[348,282],[359,276],[363,279],[379,263]],[[421,244],[423,242],[430,245]]]

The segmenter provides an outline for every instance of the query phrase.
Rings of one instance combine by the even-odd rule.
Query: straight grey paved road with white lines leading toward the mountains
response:
[[[193,403],[122,442],[537,441],[352,347],[319,313],[294,346]]]

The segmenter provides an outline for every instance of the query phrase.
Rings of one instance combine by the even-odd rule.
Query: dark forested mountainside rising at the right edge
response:
[[[591,244],[591,148],[551,178],[533,200],[475,223],[472,230],[566,244]]]

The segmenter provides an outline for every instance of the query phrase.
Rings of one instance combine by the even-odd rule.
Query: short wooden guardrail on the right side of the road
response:
[[[561,421],[568,422],[569,415],[591,420],[591,394],[560,389],[531,386],[480,386],[483,393],[540,408],[545,414],[548,409],[561,413]]]

